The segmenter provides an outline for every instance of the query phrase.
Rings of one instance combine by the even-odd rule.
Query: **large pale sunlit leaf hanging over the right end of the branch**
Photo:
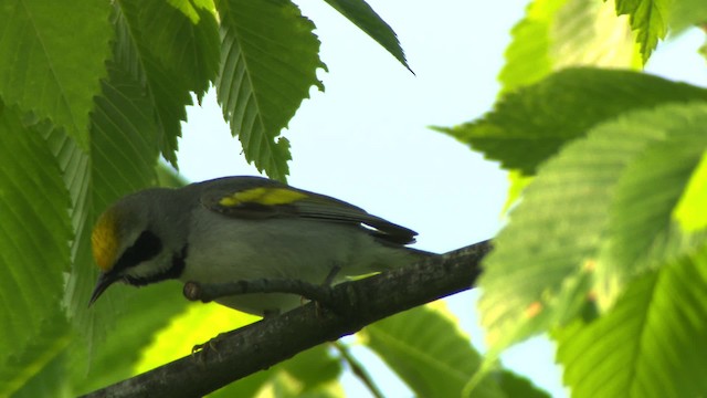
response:
[[[641,159],[647,148],[672,145],[669,139],[685,135],[696,137],[705,123],[707,105],[701,103],[633,112],[597,126],[541,168],[511,212],[511,222],[495,240],[479,280],[482,323],[494,349],[564,324],[591,305],[592,286],[606,283],[598,279],[595,269],[601,249],[612,242],[608,231],[634,233],[615,221],[609,226],[612,206],[614,211],[626,211],[624,202],[614,203],[616,192],[625,189],[622,178],[633,178],[634,164],[645,165]],[[674,190],[679,179],[655,182],[645,188],[651,189],[646,202],[657,198],[657,205],[643,207],[651,212],[648,219],[654,213],[669,214],[671,201],[661,199],[661,193]],[[643,239],[651,241],[654,235]],[[657,255],[667,249],[650,250]]]

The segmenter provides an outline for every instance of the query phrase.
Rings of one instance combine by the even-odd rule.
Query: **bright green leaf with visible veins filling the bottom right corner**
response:
[[[555,334],[573,397],[698,397],[707,390],[707,250],[631,283],[600,320]]]

